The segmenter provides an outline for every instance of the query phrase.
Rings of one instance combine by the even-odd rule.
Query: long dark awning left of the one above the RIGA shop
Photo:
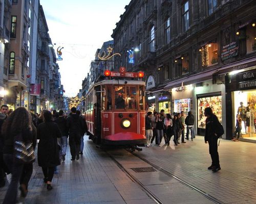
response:
[[[176,87],[181,87],[181,86],[186,86],[186,85],[189,85],[189,84],[204,82],[204,81],[207,81],[207,80],[211,80],[212,79],[212,74],[214,74],[216,72],[217,72],[217,69],[214,69],[214,70],[204,71],[204,72],[200,72],[200,73],[190,75],[186,78],[182,78],[180,80],[170,82],[169,84],[167,84],[164,87],[164,90],[172,89],[172,88],[176,88]]]

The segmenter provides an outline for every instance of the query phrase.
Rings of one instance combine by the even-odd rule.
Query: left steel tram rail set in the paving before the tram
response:
[[[157,204],[164,204],[154,193],[152,193],[150,190],[148,190],[136,177],[127,171],[123,165],[118,162],[111,154],[109,154],[108,151],[105,150],[105,153],[116,163],[116,165],[131,179],[135,184],[137,184],[142,191],[144,191],[148,197],[150,197],[154,202]]]

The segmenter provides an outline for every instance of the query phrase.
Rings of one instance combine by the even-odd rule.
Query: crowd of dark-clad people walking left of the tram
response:
[[[18,183],[20,195],[26,197],[37,140],[38,166],[44,173],[47,190],[52,190],[54,172],[60,162],[66,160],[68,138],[71,160],[79,160],[83,152],[83,136],[87,132],[84,118],[74,107],[69,116],[62,110],[53,113],[42,110],[36,116],[24,107],[9,111],[8,106],[3,105],[0,113],[0,187],[5,186],[6,175],[12,174],[3,203],[17,202]]]

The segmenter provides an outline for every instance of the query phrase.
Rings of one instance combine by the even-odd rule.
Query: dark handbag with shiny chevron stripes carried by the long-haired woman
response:
[[[22,134],[16,135],[14,137],[14,159],[18,163],[32,163],[35,161],[35,154],[34,154],[34,148],[33,143],[28,141],[25,142]]]

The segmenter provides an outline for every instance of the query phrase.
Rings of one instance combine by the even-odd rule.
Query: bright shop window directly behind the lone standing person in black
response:
[[[202,97],[198,98],[198,127],[205,129],[204,109],[210,107],[212,112],[218,117],[222,123],[222,96]]]

